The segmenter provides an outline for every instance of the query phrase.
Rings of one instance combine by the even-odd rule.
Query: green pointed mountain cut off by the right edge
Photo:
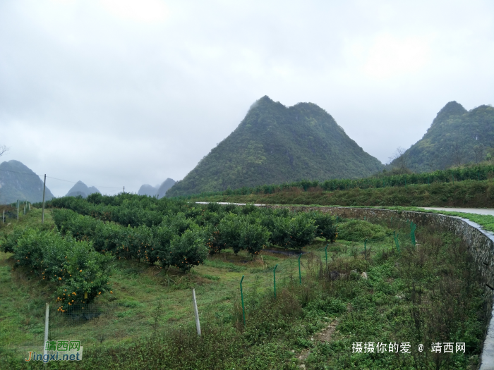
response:
[[[421,140],[413,144],[392,166],[403,163],[424,172],[483,161],[494,147],[494,108],[481,105],[471,111],[450,101],[435,117]]]

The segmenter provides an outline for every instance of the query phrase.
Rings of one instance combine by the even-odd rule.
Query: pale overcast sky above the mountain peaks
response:
[[[318,104],[385,163],[448,101],[493,104],[493,66],[490,0],[1,0],[1,161],[137,192],[268,95]]]

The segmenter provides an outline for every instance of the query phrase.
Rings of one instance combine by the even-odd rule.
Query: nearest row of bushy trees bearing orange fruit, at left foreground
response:
[[[113,257],[96,252],[90,242],[25,228],[14,230],[2,246],[4,252],[13,252],[14,267],[24,266],[58,285],[61,312],[73,304],[88,304],[110,290],[109,262]]]

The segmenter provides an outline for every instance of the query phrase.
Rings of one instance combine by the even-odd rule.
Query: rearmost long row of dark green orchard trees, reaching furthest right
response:
[[[238,216],[236,222],[231,223],[231,220],[229,222],[231,228],[234,228],[231,233],[236,235],[236,240],[241,239],[242,232],[249,235],[253,233],[253,227],[249,228],[250,231],[246,229],[248,223],[260,225],[266,229],[261,232],[262,230],[255,228],[255,233],[265,233],[265,231],[271,233],[269,240],[267,240],[270,244],[292,249],[300,249],[303,245],[311,242],[313,236],[310,235],[313,233],[315,233],[314,236],[332,242],[336,238],[336,228],[332,217],[320,212],[295,214],[287,209],[264,209],[253,205],[195,204],[131,194],[109,197],[99,193],[90,195],[88,199],[80,197],[53,199],[48,203],[48,206],[71,209],[78,214],[92,216],[101,221],[114,221],[133,228],[143,225],[152,228],[152,226],[159,226],[164,220],[167,220],[166,223],[174,223],[179,228],[180,234],[188,228],[189,223],[202,226],[208,230],[209,234],[213,234],[218,231],[215,228],[224,218]],[[233,216],[229,216],[231,214]],[[313,221],[313,226],[310,225],[311,221]],[[227,221],[223,221],[222,230],[226,227],[225,223]],[[242,228],[239,226],[241,224],[243,225]],[[208,237],[208,239],[211,238]],[[242,239],[246,240],[245,235]],[[223,245],[225,243],[217,241],[217,244]],[[228,247],[235,247],[235,243],[226,242],[226,244]],[[236,244],[238,245],[239,242]]]

